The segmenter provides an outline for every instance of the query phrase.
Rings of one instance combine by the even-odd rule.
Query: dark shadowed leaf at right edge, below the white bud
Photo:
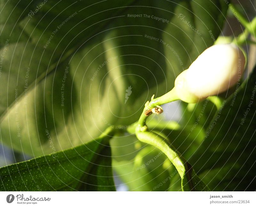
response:
[[[212,190],[255,190],[255,81],[256,68],[223,102],[189,160]]]

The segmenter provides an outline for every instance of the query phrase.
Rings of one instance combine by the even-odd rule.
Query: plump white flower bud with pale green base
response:
[[[244,64],[244,54],[235,44],[213,45],[176,78],[176,94],[180,100],[197,103],[227,91],[241,78]]]

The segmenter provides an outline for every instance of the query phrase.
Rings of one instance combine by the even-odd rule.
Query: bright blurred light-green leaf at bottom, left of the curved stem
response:
[[[132,160],[113,160],[113,169],[131,191],[165,191],[170,185],[171,165],[163,164],[166,156],[153,146],[146,146]],[[179,183],[180,184],[180,183]]]

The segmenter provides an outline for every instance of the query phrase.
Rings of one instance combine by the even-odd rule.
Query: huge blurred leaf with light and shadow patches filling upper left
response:
[[[220,0],[63,0],[47,2],[29,17],[39,4],[1,1],[1,142],[32,156],[52,153],[51,142],[56,150],[67,149],[110,125],[138,120],[146,100],[170,90],[175,76],[213,44],[208,30],[217,38],[227,10]]]

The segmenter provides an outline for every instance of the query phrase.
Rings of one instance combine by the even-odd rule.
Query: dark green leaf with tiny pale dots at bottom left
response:
[[[0,168],[1,191],[113,191],[106,138]]]

